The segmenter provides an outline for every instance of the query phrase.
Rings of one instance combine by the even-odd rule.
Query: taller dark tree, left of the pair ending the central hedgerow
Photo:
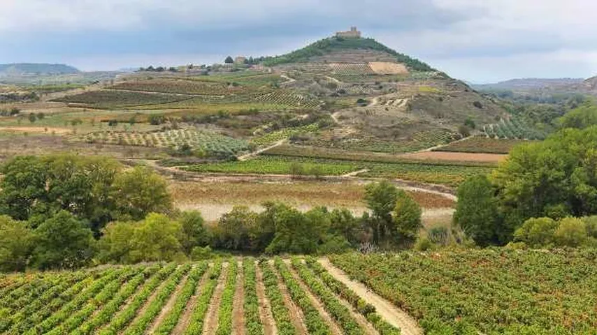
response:
[[[365,186],[365,201],[372,212],[370,221],[375,244],[386,241],[395,231],[391,211],[396,207],[397,196],[396,186],[386,180]]]

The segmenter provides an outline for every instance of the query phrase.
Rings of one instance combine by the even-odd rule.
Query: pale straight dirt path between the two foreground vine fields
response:
[[[375,306],[378,314],[390,325],[398,327],[402,335],[423,335],[423,329],[419,327],[417,320],[410,317],[400,308],[394,306],[386,299],[369,290],[364,284],[352,281],[342,270],[331,264],[327,258],[319,259],[321,264],[334,278],[348,286],[354,293],[359,295],[369,304]]]

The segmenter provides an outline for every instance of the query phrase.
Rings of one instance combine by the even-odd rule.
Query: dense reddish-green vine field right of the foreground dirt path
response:
[[[596,251],[347,254],[334,265],[426,334],[595,334]]]

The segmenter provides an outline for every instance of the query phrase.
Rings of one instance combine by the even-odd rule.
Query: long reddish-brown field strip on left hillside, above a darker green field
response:
[[[240,94],[243,87],[233,87],[222,82],[199,82],[196,80],[130,80],[120,82],[110,87],[125,91],[150,91],[171,94],[198,94],[206,96],[224,96],[226,94]]]

